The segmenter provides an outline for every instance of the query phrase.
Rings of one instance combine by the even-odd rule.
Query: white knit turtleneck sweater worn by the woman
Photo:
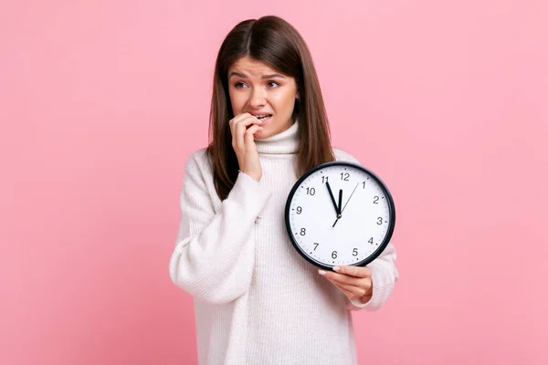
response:
[[[220,201],[205,149],[184,169],[181,221],[170,261],[177,287],[194,297],[200,364],[357,363],[350,309],[375,310],[398,272],[395,248],[368,267],[373,297],[349,300],[290,243],[284,207],[298,176],[299,122],[256,140],[263,175],[243,172]],[[333,149],[337,160],[357,162]]]

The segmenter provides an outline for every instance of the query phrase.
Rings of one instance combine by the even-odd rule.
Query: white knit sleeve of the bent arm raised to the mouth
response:
[[[208,303],[228,303],[248,291],[255,264],[253,225],[271,192],[244,172],[215,213],[193,154],[184,169],[181,219],[169,270],[172,281]]]

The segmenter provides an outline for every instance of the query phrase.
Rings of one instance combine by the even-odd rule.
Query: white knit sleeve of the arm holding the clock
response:
[[[359,163],[359,160],[350,153],[340,149],[333,149],[337,161],[349,161]],[[351,310],[377,310],[382,308],[388,297],[392,294],[395,282],[399,279],[399,273],[395,267],[395,246],[389,243],[381,255],[369,263],[371,280],[373,282],[373,296],[365,303],[361,299],[348,299],[347,308]]]

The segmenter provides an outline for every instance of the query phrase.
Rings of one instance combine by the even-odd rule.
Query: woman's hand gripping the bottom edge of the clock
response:
[[[373,295],[371,269],[367,266],[334,266],[332,271],[319,270],[320,275],[332,282],[349,299],[360,298],[366,303]]]

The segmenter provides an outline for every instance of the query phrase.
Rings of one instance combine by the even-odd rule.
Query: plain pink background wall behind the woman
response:
[[[0,363],[195,363],[168,275],[184,162],[223,37],[269,14],[395,198],[401,281],[355,313],[361,363],[548,363],[546,3],[270,3],[1,6]]]

